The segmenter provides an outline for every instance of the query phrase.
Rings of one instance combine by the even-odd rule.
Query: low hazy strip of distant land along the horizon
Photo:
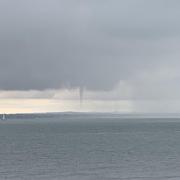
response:
[[[3,114],[0,114],[2,117]],[[6,114],[6,119],[38,119],[38,118],[100,118],[100,119],[180,119],[179,113],[94,113],[94,112],[53,112],[53,113],[17,113]]]

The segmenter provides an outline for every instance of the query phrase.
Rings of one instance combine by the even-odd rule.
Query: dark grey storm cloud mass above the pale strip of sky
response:
[[[109,90],[177,66],[179,8],[177,0],[1,0],[0,88]]]

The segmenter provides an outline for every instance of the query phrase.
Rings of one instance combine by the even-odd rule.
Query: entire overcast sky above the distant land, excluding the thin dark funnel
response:
[[[85,111],[126,101],[129,111],[180,112],[179,10],[179,0],[0,0],[0,98],[80,111],[83,89]]]

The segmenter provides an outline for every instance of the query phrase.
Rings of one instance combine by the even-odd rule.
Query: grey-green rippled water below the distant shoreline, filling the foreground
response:
[[[180,121],[0,122],[0,180],[180,179]]]

